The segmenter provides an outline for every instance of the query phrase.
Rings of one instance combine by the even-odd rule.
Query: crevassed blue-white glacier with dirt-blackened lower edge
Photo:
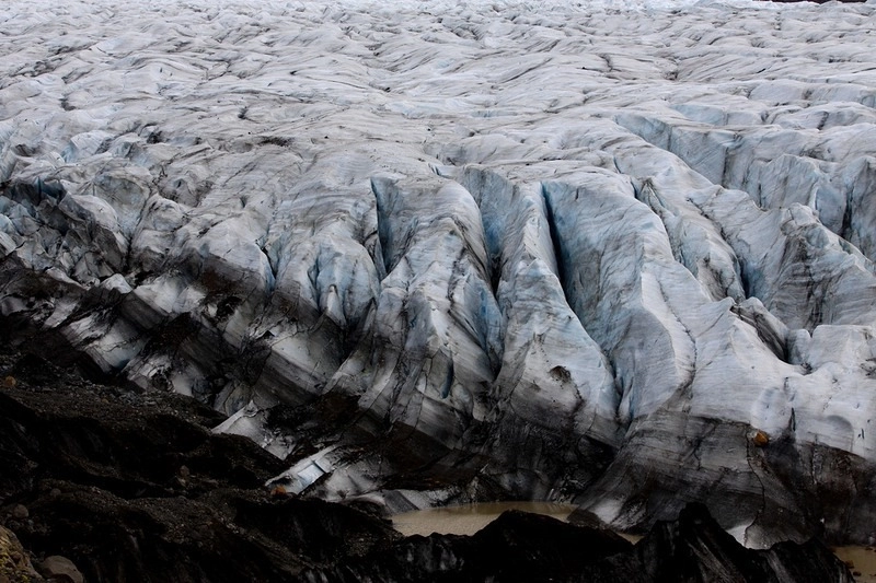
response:
[[[872,545],[874,18],[11,0],[0,336],[304,497]]]

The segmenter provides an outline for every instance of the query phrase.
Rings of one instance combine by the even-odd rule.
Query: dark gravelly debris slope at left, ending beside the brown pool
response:
[[[263,483],[283,463],[212,433],[215,411],[191,397],[119,392],[36,357],[2,360],[22,380],[0,392],[5,524],[87,581],[290,581],[400,536],[349,506],[272,498]]]

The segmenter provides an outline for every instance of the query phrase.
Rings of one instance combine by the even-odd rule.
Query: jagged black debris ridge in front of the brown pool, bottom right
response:
[[[635,583],[851,583],[846,565],[822,544],[782,543],[751,550],[723,530],[705,506],[658,523],[635,546],[592,527],[507,511],[471,537],[413,536],[306,581],[580,581]]]

